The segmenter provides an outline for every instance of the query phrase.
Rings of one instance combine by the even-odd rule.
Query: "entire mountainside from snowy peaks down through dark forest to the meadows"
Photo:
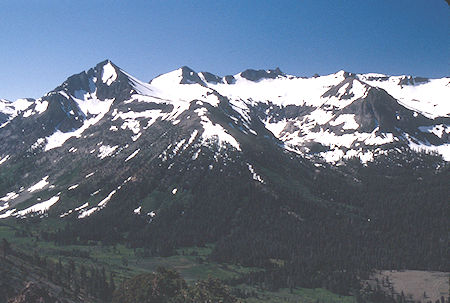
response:
[[[209,247],[255,269],[231,286],[395,302],[374,270],[449,271],[449,97],[449,77],[184,66],[146,83],[106,60],[0,100],[0,224],[146,257]]]

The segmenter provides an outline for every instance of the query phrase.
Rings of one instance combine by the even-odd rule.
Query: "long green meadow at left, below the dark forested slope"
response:
[[[238,265],[227,265],[210,262],[208,255],[213,250],[212,245],[205,247],[188,247],[177,251],[177,255],[170,257],[145,257],[140,249],[130,249],[124,245],[102,246],[98,243],[92,245],[64,245],[58,246],[53,242],[40,240],[40,230],[61,228],[61,225],[52,225],[47,220],[39,224],[33,224],[32,231],[27,225],[15,227],[11,220],[8,225],[0,223],[0,239],[27,252],[38,252],[50,260],[63,263],[73,260],[76,264],[85,266],[105,267],[112,271],[118,281],[132,277],[139,273],[156,270],[159,266],[173,268],[181,273],[188,282],[206,279],[208,276],[230,279],[257,268],[246,268]],[[35,226],[36,225],[36,226]],[[27,236],[24,236],[26,234]]]

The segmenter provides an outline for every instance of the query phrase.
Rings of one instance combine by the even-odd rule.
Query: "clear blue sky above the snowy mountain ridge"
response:
[[[40,97],[111,59],[141,80],[187,65],[450,74],[444,0],[2,0],[0,98]]]

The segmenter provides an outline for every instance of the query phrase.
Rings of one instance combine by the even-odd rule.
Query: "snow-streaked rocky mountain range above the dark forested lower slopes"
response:
[[[172,195],[213,169],[265,186],[267,150],[312,168],[419,151],[450,161],[449,96],[448,77],[181,67],[146,83],[107,60],[37,100],[0,100],[0,218],[84,218],[156,171]]]

